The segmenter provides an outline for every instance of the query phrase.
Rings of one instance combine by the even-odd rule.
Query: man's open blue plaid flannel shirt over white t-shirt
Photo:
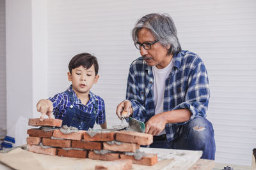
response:
[[[153,83],[152,67],[142,57],[134,60],[129,69],[126,99],[132,103],[132,117],[142,122],[155,115]],[[209,97],[209,80],[202,59],[184,50],[173,55],[173,69],[165,81],[163,110],[188,109],[190,120],[206,117]],[[187,122],[166,124],[167,141],[175,139],[179,126]]]

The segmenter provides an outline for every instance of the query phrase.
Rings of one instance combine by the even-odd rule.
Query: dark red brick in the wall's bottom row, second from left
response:
[[[86,158],[88,157],[87,150],[64,150],[62,148],[58,148],[58,156],[63,157],[71,157],[71,158]]]

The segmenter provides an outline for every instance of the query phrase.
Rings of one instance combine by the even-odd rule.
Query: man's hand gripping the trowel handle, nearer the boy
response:
[[[116,107],[116,115],[118,118],[128,118],[133,113],[132,110],[132,103],[131,101],[125,100],[122,101],[118,106]]]

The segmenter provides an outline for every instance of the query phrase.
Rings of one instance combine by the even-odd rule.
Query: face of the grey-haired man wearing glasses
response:
[[[153,34],[147,29],[143,28],[138,31],[138,42],[139,43],[152,43],[156,39]],[[161,43],[157,42],[154,45],[151,45],[150,50],[145,50],[141,46],[140,54],[147,62],[148,66],[156,66],[159,69],[162,69],[171,62],[172,55],[168,55],[169,46],[163,46]]]

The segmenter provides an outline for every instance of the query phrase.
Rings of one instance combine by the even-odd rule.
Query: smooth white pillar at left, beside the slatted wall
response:
[[[7,133],[26,144],[28,118],[47,96],[47,1],[6,1]]]

